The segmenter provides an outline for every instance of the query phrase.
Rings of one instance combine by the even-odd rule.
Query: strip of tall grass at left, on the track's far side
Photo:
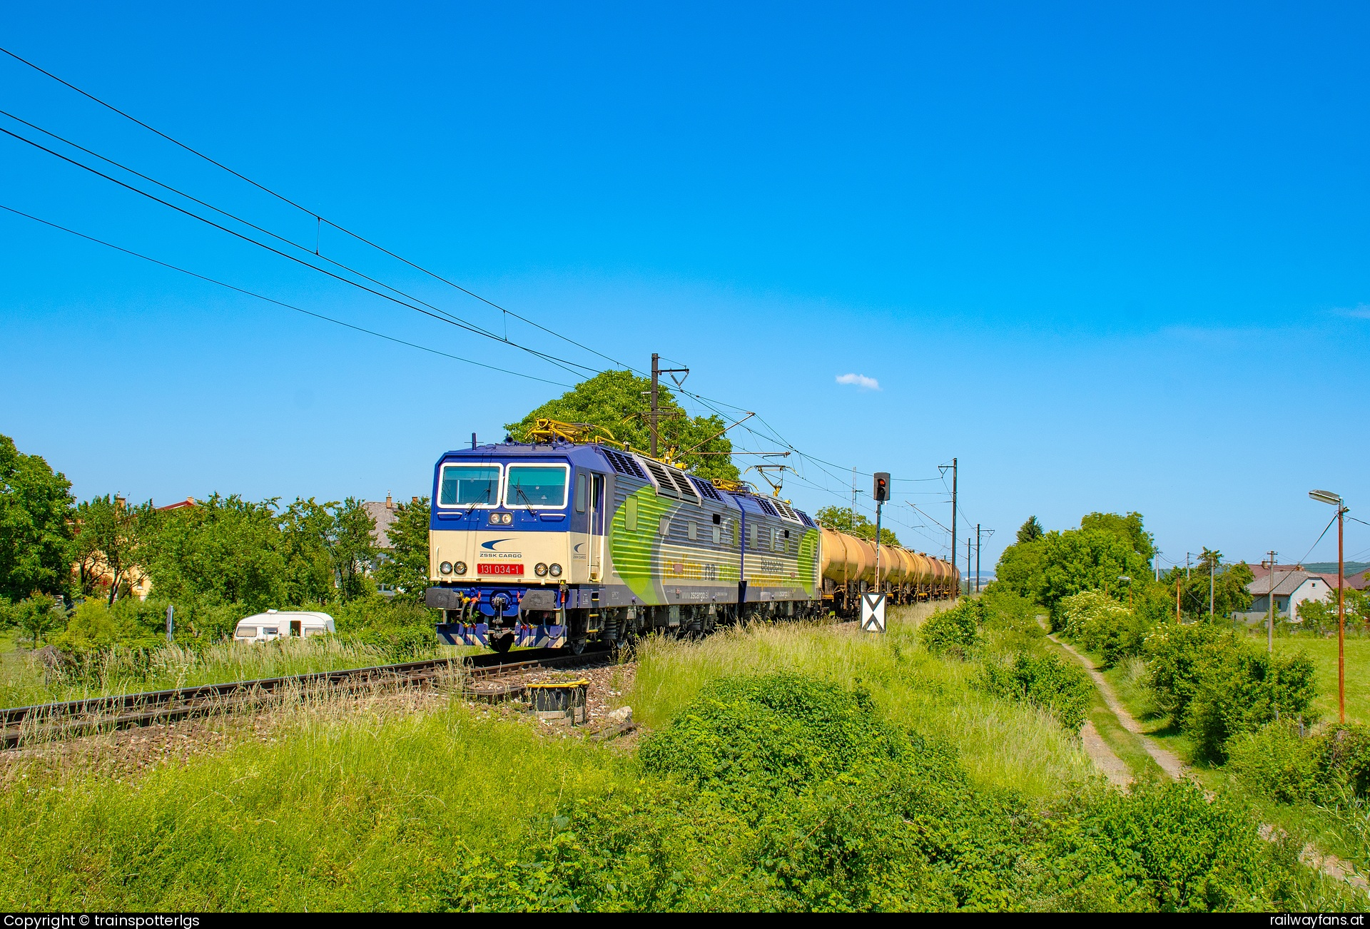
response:
[[[474,649],[441,651],[443,656],[455,656]],[[382,647],[333,636],[269,643],[227,640],[201,649],[181,645],[151,651],[114,648],[78,658],[62,669],[49,669],[32,652],[5,658],[0,662],[0,706],[4,707],[314,674],[393,660]]]

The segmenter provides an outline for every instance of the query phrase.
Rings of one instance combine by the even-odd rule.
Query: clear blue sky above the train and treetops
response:
[[[1303,556],[1332,515],[1314,486],[1370,514],[1367,33],[1349,4],[0,11],[4,47],[307,210],[614,359],[688,364],[688,388],[833,463],[788,478],[797,504],[889,470],[910,478],[892,528],[945,551],[904,503],[945,523],[956,456],[986,563],[1029,514],[1140,510],[1181,562]],[[0,100],[312,249],[306,212],[12,60]],[[569,380],[8,136],[0,204]],[[0,244],[0,432],[81,496],[407,497],[562,389],[12,215]],[[504,332],[327,226],[319,245]]]

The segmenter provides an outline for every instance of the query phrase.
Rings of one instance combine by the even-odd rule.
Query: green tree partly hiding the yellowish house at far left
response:
[[[101,578],[108,575],[110,589],[103,596],[112,604],[142,581],[145,569],[138,563],[140,548],[153,514],[151,500],[130,507],[123,497],[108,493],[77,506],[70,560],[75,565],[82,595],[95,595]]]

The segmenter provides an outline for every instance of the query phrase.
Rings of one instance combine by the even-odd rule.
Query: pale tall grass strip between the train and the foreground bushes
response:
[[[896,615],[884,636],[786,623],[734,628],[700,643],[651,639],[638,648],[637,678],[625,699],[634,718],[662,726],[707,681],[796,671],[870,691],[891,722],[956,745],[981,785],[1040,797],[1092,774],[1080,740],[1049,713],[981,693],[973,686],[978,665],[929,655],[915,625]]]

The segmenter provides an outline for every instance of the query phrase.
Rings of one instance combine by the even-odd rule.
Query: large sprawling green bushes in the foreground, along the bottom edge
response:
[[[447,871],[460,910],[1244,910],[1297,884],[1241,807],[1189,782],[1047,808],[970,784],[941,743],[795,674],[706,686],[522,848]],[[667,780],[658,780],[658,778]]]

